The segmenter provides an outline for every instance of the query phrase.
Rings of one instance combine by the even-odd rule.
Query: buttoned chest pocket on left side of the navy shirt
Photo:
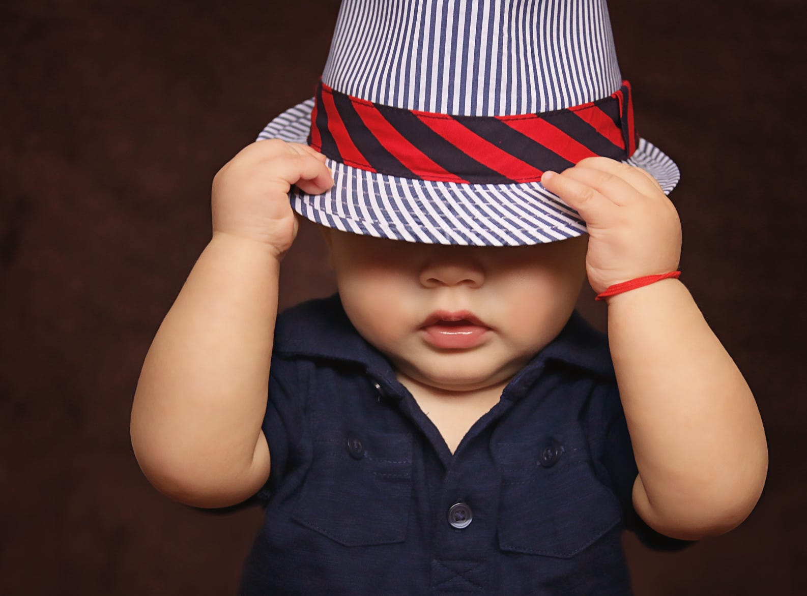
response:
[[[406,537],[412,435],[316,423],[314,457],[293,519],[346,546]]]

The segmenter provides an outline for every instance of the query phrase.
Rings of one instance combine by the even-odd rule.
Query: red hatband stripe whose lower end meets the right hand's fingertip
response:
[[[479,161],[479,163],[486,165],[488,168],[495,170],[510,180],[520,181],[529,178],[537,180],[543,175],[540,169],[510,155],[490,141],[471,132],[466,127],[462,126],[461,123],[458,123],[457,120],[451,118],[451,116],[434,117],[418,112],[413,113],[422,123],[431,128],[450,144],[453,144],[454,147],[464,152],[467,156]]]

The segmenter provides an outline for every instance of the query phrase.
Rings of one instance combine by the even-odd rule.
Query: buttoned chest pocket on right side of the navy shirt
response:
[[[596,477],[579,427],[497,448],[503,550],[566,559],[620,521],[619,501]]]

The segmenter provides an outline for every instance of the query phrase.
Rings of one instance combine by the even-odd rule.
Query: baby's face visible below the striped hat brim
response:
[[[442,390],[508,381],[558,335],[586,277],[587,235],[494,248],[324,233],[359,333],[399,377]]]

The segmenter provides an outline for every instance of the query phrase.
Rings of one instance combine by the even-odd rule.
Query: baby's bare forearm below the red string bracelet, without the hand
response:
[[[652,527],[696,539],[751,512],[767,474],[754,396],[688,290],[667,279],[608,301],[608,338]]]

